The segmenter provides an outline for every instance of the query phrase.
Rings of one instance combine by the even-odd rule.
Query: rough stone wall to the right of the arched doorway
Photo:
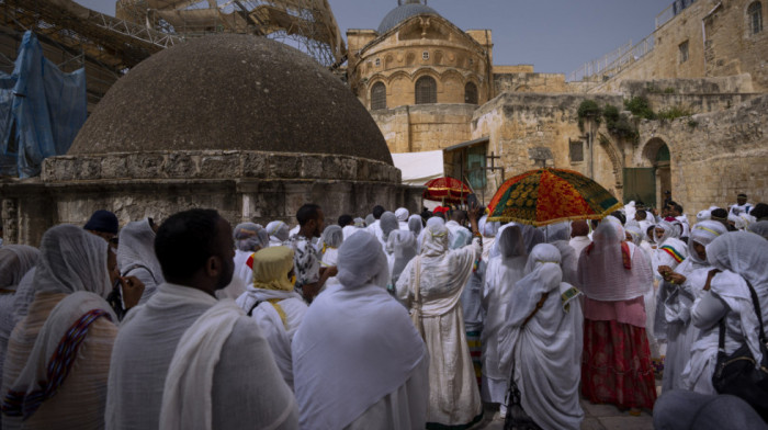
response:
[[[691,118],[643,121],[640,143],[630,156],[639,167],[652,165],[659,144],[669,148],[673,196],[691,220],[711,205],[734,204],[742,192],[753,204],[768,202],[768,95]]]

